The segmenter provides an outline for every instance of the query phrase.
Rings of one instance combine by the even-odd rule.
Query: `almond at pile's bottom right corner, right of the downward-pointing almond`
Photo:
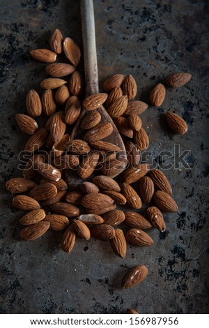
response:
[[[132,228],[127,230],[125,239],[135,246],[153,246],[153,239],[143,230],[138,228]]]

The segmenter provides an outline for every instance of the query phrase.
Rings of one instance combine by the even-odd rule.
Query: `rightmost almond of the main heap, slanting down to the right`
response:
[[[153,195],[153,199],[157,207],[165,212],[178,212],[178,206],[173,198],[164,193],[164,191],[156,191]]]

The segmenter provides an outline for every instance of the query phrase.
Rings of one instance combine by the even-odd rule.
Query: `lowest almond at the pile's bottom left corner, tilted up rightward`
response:
[[[50,223],[47,221],[40,221],[33,225],[28,225],[20,231],[20,238],[27,241],[33,241],[41,237],[49,229]]]

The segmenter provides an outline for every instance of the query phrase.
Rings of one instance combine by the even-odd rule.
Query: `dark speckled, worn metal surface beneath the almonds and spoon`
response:
[[[160,165],[161,150],[180,144],[189,169],[166,172],[178,214],[166,214],[167,230],[150,230],[155,246],[128,246],[118,258],[109,241],[82,241],[70,255],[61,251],[61,234],[20,241],[20,211],[4,183],[17,170],[17,154],[27,136],[15,124],[26,112],[25,97],[45,77],[45,64],[29,50],[48,47],[50,33],[60,28],[82,47],[78,1],[16,0],[1,3],[1,313],[208,313],[208,1],[95,1],[100,81],[114,73],[132,74],[137,98],[170,73],[187,71],[192,80],[167,89],[160,109],[141,115],[150,138],[149,150]],[[83,70],[82,63],[79,70]],[[175,109],[186,121],[186,135],[171,133],[163,112]],[[174,163],[174,158],[171,158]],[[178,161],[176,161],[178,162]],[[146,280],[122,290],[127,268],[144,263]]]

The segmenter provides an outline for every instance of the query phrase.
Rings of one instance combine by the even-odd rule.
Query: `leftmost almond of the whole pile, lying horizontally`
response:
[[[35,186],[35,182],[25,178],[12,178],[6,181],[6,190],[10,193],[24,193]]]

